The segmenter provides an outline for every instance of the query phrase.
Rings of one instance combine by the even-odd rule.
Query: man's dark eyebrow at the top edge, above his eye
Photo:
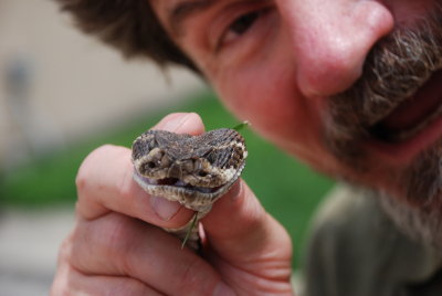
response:
[[[168,15],[169,25],[176,35],[182,34],[182,24],[190,17],[208,10],[220,0],[185,0],[170,9]]]

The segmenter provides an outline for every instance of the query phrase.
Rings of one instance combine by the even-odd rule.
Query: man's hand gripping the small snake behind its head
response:
[[[155,128],[203,133],[196,114],[171,114]],[[202,219],[199,256],[159,229],[182,226],[192,211],[148,195],[133,171],[123,147],[101,147],[83,162],[76,225],[51,295],[292,295],[291,240],[242,179]]]

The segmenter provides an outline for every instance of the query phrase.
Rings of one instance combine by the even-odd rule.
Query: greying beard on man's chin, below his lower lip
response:
[[[406,200],[378,190],[381,208],[411,239],[442,249],[442,140],[421,154],[399,183]]]

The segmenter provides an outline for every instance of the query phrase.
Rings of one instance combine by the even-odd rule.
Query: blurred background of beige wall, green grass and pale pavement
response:
[[[103,144],[129,147],[171,112],[233,127],[215,95],[179,68],[125,61],[82,35],[50,0],[0,0],[0,296],[48,295],[74,223],[74,179]],[[333,182],[253,135],[244,179],[291,233],[294,268]]]

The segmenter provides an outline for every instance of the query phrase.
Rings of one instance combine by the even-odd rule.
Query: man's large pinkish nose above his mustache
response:
[[[306,96],[329,96],[361,74],[372,45],[393,28],[390,11],[375,0],[276,0]]]

